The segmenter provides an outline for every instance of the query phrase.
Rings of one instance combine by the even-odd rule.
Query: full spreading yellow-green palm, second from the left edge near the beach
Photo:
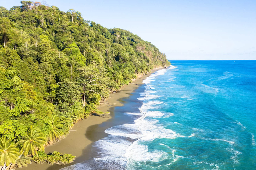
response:
[[[31,127],[27,134],[17,144],[22,144],[21,154],[27,156],[31,153],[33,156],[38,155],[37,150],[44,150],[46,138],[38,127]]]

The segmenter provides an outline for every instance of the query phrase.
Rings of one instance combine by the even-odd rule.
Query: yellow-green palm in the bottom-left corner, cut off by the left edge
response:
[[[19,149],[5,137],[0,138],[0,167],[6,170],[10,165],[15,164],[19,158]]]

